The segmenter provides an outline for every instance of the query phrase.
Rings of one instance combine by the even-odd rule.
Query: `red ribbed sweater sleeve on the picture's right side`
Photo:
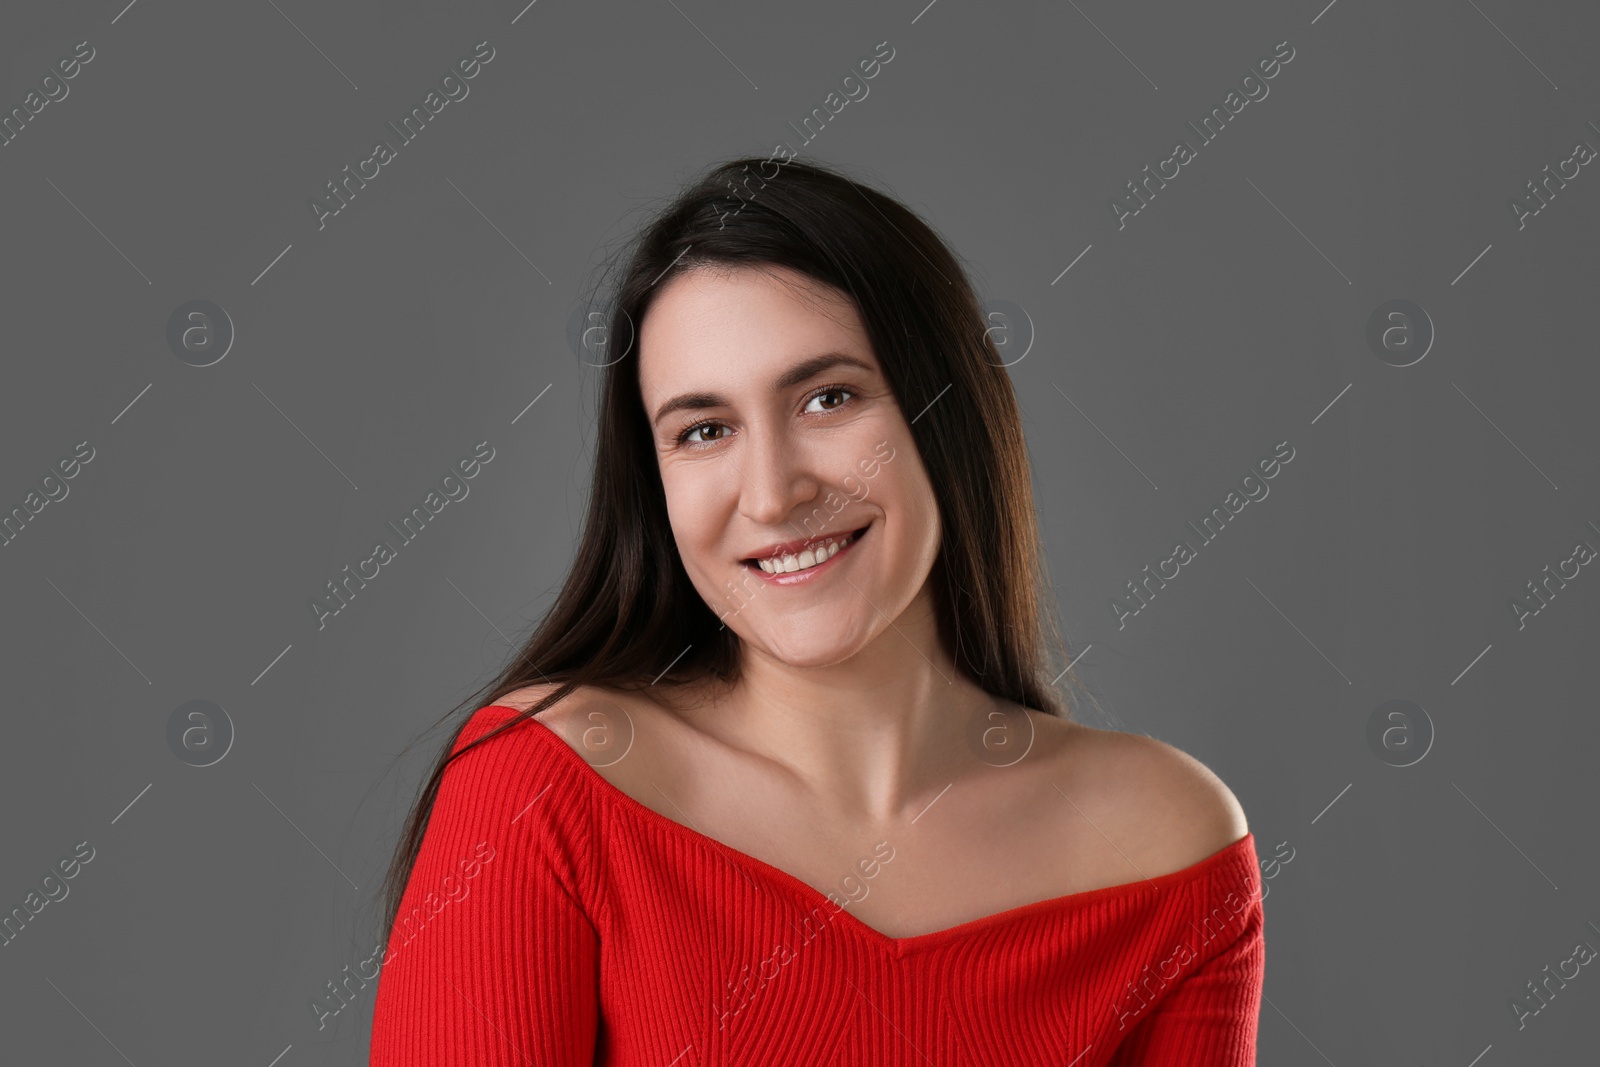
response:
[[[1226,893],[1210,883],[1189,926],[1189,974],[1133,1027],[1107,1067],[1254,1067],[1266,968],[1259,873],[1251,865],[1242,889]]]

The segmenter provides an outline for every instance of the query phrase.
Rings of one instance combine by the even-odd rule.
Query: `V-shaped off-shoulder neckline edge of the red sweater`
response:
[[[507,707],[506,704],[490,704],[483,710],[496,709],[504,712],[514,712],[522,715],[515,707]],[[912,949],[925,949],[934,945],[946,945],[968,937],[976,937],[990,929],[1003,928],[1011,923],[1021,921],[1024,918],[1034,918],[1038,915],[1046,915],[1056,910],[1066,910],[1072,907],[1090,907],[1096,904],[1109,904],[1112,901],[1120,901],[1123,897],[1146,893],[1146,891],[1166,891],[1176,886],[1198,881],[1218,867],[1234,862],[1235,857],[1246,856],[1254,848],[1254,832],[1246,830],[1245,837],[1222,846],[1221,849],[1211,853],[1205,859],[1200,859],[1179,870],[1171,870],[1150,878],[1139,878],[1136,881],[1122,881],[1109,886],[1096,886],[1093,889],[1080,889],[1077,893],[1067,893],[1062,896],[1046,897],[1043,901],[1030,901],[1027,904],[1019,904],[1016,907],[1008,907],[1002,912],[992,912],[989,915],[981,915],[978,918],[957,923],[954,926],[946,926],[942,929],[930,929],[922,934],[910,934],[907,937],[891,937],[875,926],[869,926],[859,920],[848,907],[840,909],[835,905],[826,893],[816,889],[811,883],[789,873],[782,867],[774,867],[765,859],[750,856],[731,845],[718,841],[709,833],[701,833],[694,827],[685,825],[667,816],[661,814],[650,805],[629,795],[616,784],[613,784],[606,776],[597,771],[589,760],[574,750],[565,737],[562,737],[549,723],[526,717],[525,721],[533,721],[539,726],[536,733],[547,734],[549,742],[555,747],[560,758],[573,763],[579,768],[579,776],[590,782],[595,793],[603,797],[613,809],[619,809],[635,821],[645,822],[658,830],[664,830],[674,837],[691,841],[701,848],[715,851],[726,859],[734,861],[734,864],[754,869],[757,873],[765,877],[768,881],[774,881],[790,894],[802,897],[808,902],[808,912],[814,912],[816,907],[826,907],[834,913],[834,918],[843,918],[845,926],[854,931],[864,941],[869,941],[878,947],[890,949],[894,955],[906,955]]]

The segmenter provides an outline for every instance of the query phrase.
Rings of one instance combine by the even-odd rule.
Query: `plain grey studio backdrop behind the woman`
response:
[[[96,856],[0,947],[5,1059],[365,1062],[376,985],[323,1030],[309,1001],[371,955],[442,736],[390,761],[565,574],[597,382],[566,323],[643,211],[781,141],[1026,310],[1086,718],[1194,753],[1262,859],[1294,851],[1261,1062],[1587,1053],[1594,968],[1522,1030],[1509,1001],[1600,945],[1600,576],[1522,629],[1509,603],[1600,545],[1600,176],[1525,229],[1507,202],[1600,146],[1597,35],[1506,0],[6,5],[6,110],[96,58],[0,147],[0,507],[96,454],[0,547],[0,905]],[[318,230],[310,197],[483,40],[470,94]],[[1270,94],[1118,230],[1107,200],[1283,40]],[[165,339],[190,299],[237,330],[211,366]],[[1437,328],[1406,368],[1365,341],[1390,299]],[[482,440],[470,494],[318,630],[323,582]],[[1123,582],[1283,440],[1272,494],[1118,629]],[[237,729],[206,768],[166,741],[194,699]],[[1413,766],[1366,742],[1390,699],[1432,721]]]

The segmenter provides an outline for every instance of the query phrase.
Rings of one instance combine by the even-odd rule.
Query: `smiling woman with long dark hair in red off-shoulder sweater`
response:
[[[610,339],[571,574],[390,869],[370,1062],[1254,1064],[1253,835],[1053,693],[1021,419],[941,238],[734,160]]]

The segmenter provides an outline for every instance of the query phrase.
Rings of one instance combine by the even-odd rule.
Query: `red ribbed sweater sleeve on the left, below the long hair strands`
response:
[[[453,750],[509,718],[480,709]],[[549,728],[518,723],[440,777],[384,949],[370,1067],[594,1062],[590,793],[533,729]]]

